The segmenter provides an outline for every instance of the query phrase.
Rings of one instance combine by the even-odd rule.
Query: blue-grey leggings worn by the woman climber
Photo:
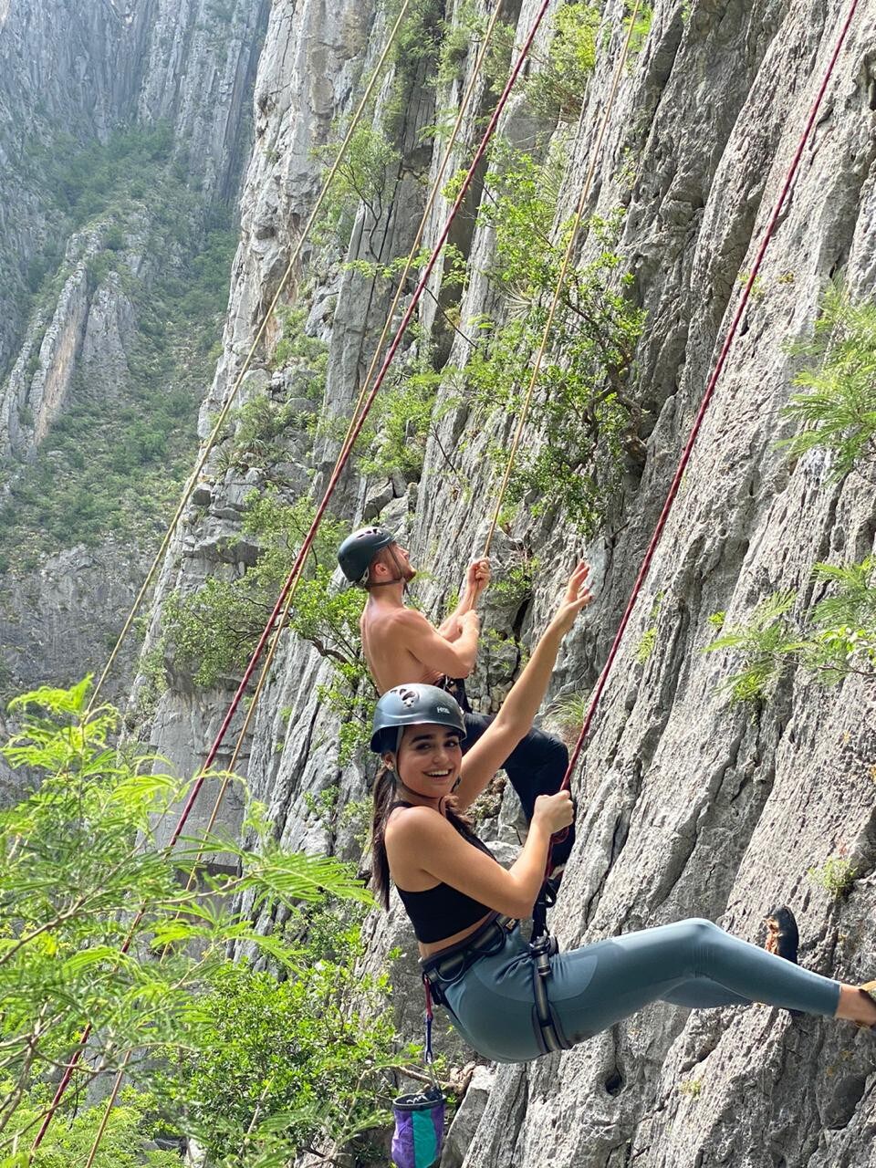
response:
[[[561,1037],[583,1042],[661,1000],[676,1006],[766,1002],[833,1016],[840,982],[738,940],[710,920],[679,920],[551,958],[548,997]],[[444,988],[453,1026],[498,1063],[545,1054],[533,1004],[533,962],[520,926]]]

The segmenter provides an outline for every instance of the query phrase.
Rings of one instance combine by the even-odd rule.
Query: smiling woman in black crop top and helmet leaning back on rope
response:
[[[396,686],[377,703],[371,749],[384,770],[374,790],[374,881],[384,906],[395,883],[413,924],[424,976],[453,1026],[486,1058],[526,1062],[557,1049],[537,1021],[537,962],[516,918],[531,910],[551,834],[572,822],[568,791],[540,795],[523,849],[506,870],[463,818],[529,730],[557,651],[590,603],[579,564],[495,721],[463,758],[465,722],[434,686]],[[765,1002],[876,1026],[876,982],[854,987],[801,969],[708,920],[612,937],[544,962],[558,1045],[605,1030],[658,999],[686,1007]]]

